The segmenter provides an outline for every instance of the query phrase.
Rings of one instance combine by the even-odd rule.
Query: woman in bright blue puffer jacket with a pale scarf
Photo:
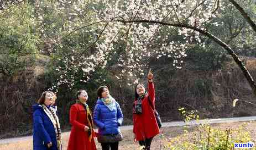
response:
[[[93,121],[98,126],[98,141],[102,150],[118,150],[118,141],[102,142],[99,137],[104,135],[120,135],[119,126],[123,123],[123,113],[118,102],[109,95],[107,86],[100,86],[97,90],[98,101],[93,111]]]

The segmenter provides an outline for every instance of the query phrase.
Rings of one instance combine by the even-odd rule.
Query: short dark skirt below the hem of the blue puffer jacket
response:
[[[97,140],[100,143],[116,143],[123,140],[123,135],[121,132],[118,134],[98,135]]]

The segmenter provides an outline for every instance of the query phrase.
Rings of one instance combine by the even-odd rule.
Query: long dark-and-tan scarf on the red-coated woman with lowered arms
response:
[[[91,142],[92,140],[92,132],[93,132],[93,122],[92,122],[92,114],[91,114],[91,111],[88,107],[88,104],[85,103],[82,103],[80,102],[79,100],[76,100],[76,103],[77,104],[81,104],[85,110],[86,110],[86,119],[87,119],[87,122],[88,122],[88,127],[89,127],[89,130],[88,130],[88,136],[89,136],[89,141]]]

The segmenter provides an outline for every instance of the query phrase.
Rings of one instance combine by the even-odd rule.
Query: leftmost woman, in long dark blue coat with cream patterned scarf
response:
[[[54,95],[42,93],[38,104],[33,105],[33,149],[61,150],[61,131],[56,108],[52,105]]]

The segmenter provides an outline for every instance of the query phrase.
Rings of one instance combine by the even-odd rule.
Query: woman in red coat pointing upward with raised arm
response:
[[[149,102],[150,101],[150,102]],[[149,150],[153,137],[160,133],[153,108],[155,107],[155,89],[151,69],[148,73],[148,93],[144,85],[135,87],[135,101],[133,104],[133,133],[134,142],[139,141],[140,146]]]

